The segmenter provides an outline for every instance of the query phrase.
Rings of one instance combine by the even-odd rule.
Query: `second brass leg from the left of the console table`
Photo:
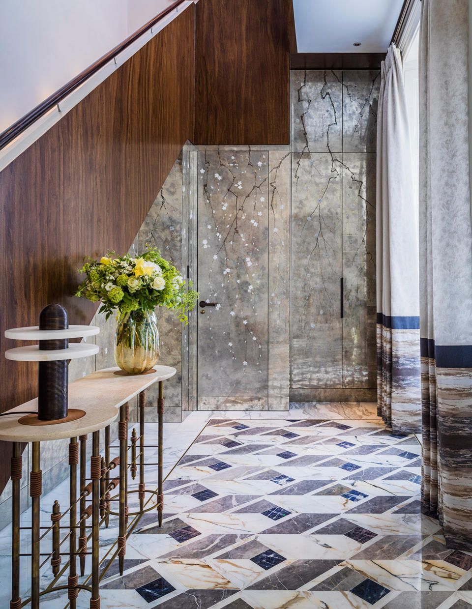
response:
[[[30,471],[31,497],[31,609],[40,606],[40,443],[32,442],[33,463]]]

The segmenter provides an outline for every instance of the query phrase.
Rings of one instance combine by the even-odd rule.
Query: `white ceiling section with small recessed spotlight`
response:
[[[402,5],[403,0],[294,0],[298,52],[387,51]]]

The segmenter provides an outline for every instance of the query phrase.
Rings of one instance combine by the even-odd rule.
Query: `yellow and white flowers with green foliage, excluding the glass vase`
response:
[[[102,301],[100,313],[106,319],[114,312],[151,311],[165,306],[176,311],[182,322],[188,323],[186,312],[197,302],[198,293],[186,284],[177,269],[161,256],[160,250],[146,246],[139,258],[129,254],[115,256],[114,252],[100,260],[85,258],[81,273],[86,277],[77,288],[76,296],[92,302]]]

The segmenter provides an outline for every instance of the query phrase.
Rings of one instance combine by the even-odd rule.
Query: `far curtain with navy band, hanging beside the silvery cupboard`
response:
[[[377,398],[396,434],[421,430],[418,210],[400,51],[382,62],[377,123]]]

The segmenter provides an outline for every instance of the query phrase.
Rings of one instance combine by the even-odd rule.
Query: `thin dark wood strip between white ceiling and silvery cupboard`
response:
[[[292,53],[291,70],[376,70],[385,53]]]

